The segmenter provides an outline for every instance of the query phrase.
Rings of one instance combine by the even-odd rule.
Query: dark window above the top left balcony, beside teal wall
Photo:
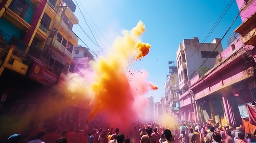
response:
[[[29,8],[29,4],[25,0],[13,0],[9,8],[24,19]]]

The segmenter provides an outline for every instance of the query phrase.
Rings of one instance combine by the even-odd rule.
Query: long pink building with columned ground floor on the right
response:
[[[199,121],[210,118],[225,125],[245,125],[238,105],[256,100],[254,55],[256,50],[256,0],[236,0],[243,21],[236,30],[240,34],[229,46],[217,56],[215,66],[207,73],[191,79],[191,94],[195,99]]]

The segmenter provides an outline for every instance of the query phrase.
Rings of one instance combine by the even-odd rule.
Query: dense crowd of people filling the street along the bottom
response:
[[[105,124],[104,124],[105,125]],[[220,125],[220,123],[180,122],[173,127],[155,122],[140,122],[129,126],[129,130],[108,127],[90,127],[89,130],[56,129],[31,134],[21,139],[13,134],[7,143],[254,143],[256,129],[245,133],[243,126]]]

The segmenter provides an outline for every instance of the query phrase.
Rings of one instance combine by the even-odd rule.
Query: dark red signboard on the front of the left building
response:
[[[36,59],[34,59],[28,76],[41,84],[46,84],[49,86],[56,84],[58,81],[58,76],[50,71],[47,71],[45,66]]]

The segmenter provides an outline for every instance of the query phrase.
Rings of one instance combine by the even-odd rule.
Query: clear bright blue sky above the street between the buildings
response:
[[[176,61],[179,43],[193,37],[199,37],[202,42],[229,3],[229,0],[73,0],[74,3],[76,1],[104,51],[117,35],[121,35],[122,29],[132,29],[139,20],[144,22],[146,32],[142,41],[151,44],[150,53],[133,67],[146,70],[149,73],[148,80],[159,87],[159,90],[151,91],[147,95],[153,96],[155,102],[164,95],[168,61]],[[206,42],[221,38],[237,13],[235,1]],[[93,39],[78,7],[75,15],[84,31]],[[223,39],[223,49],[227,47],[227,39],[240,24],[239,17]],[[93,44],[78,25],[73,27],[73,31],[92,51],[99,51],[103,55],[101,48]],[[81,41],[79,44],[84,45]]]

